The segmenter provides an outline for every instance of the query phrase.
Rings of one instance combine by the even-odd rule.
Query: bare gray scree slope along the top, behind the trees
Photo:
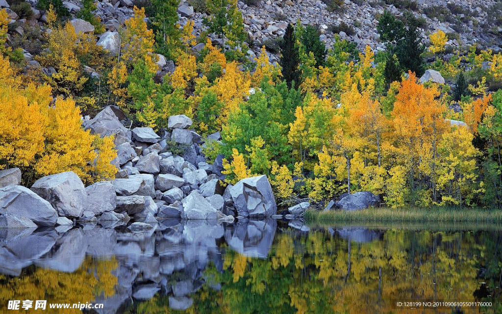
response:
[[[44,12],[36,9],[37,0],[28,0],[33,6],[34,15],[31,21],[20,19],[16,13],[8,9],[12,21],[20,25],[25,23],[40,24],[46,21]],[[203,3],[202,0],[181,0],[178,8],[180,24],[184,25],[190,19],[195,22],[195,33],[200,35],[205,29],[203,19],[205,13],[192,5]],[[273,45],[274,39],[282,37],[288,23],[297,23],[316,26],[321,39],[329,48],[332,46],[335,35],[357,43],[360,49],[369,45],[373,49],[384,49],[379,39],[376,25],[379,16],[385,11],[390,11],[397,16],[404,12],[412,11],[421,18],[423,25],[422,37],[428,41],[428,34],[442,30],[449,35],[447,45],[453,48],[480,44],[483,48],[500,50],[500,34],[502,33],[502,4],[496,0],[459,0],[445,2],[440,0],[345,0],[337,10],[331,10],[332,0],[244,0],[238,2],[244,18],[244,29],[248,33],[250,52],[253,55],[263,44]],[[114,32],[124,21],[133,15],[135,2],[132,0],[102,0],[97,1],[98,9],[95,15],[105,25],[106,31]],[[144,3],[144,2],[142,2]],[[67,0],[63,4],[74,16],[80,11],[81,4],[78,0]],[[0,0],[0,8],[9,8],[6,0]],[[18,30],[22,32],[22,29]],[[100,37],[101,35],[98,35]],[[222,41],[212,35],[213,43]],[[272,57],[274,61],[274,57]]]

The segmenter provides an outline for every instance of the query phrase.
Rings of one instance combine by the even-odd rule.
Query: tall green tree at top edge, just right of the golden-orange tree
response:
[[[175,58],[176,49],[181,47],[178,4],[179,0],[152,0],[157,50],[169,59]]]

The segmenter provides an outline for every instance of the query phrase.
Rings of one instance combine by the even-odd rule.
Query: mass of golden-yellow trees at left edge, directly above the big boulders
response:
[[[8,60],[0,57],[2,65],[4,73]],[[82,129],[72,98],[58,97],[51,107],[49,86],[9,85],[19,78],[7,73],[0,75],[8,78],[0,82],[0,160],[8,166],[33,167],[37,176],[71,170],[85,183],[113,178],[116,168],[110,161],[116,153],[111,139]]]

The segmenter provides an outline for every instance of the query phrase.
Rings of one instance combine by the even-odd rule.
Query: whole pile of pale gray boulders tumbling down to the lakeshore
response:
[[[28,189],[19,185],[19,169],[0,171],[0,227],[109,224],[131,217],[144,222],[156,218],[230,222],[234,216],[261,218],[277,213],[264,175],[223,188],[223,156],[212,165],[207,163],[202,137],[189,129],[192,120],[187,116],[170,117],[169,129],[159,136],[152,128],[127,129],[116,111],[107,107],[83,122],[92,133],[114,136],[116,178],[84,187],[78,175],[68,171],[42,177]],[[182,156],[173,154],[171,145]]]

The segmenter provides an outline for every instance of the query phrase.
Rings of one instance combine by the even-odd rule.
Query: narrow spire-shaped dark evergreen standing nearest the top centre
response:
[[[281,60],[279,64],[282,67],[284,80],[286,80],[288,88],[297,88],[300,85],[300,70],[298,69],[300,56],[298,47],[296,47],[296,36],[293,25],[289,24],[286,28],[286,33],[283,36],[280,46]]]

